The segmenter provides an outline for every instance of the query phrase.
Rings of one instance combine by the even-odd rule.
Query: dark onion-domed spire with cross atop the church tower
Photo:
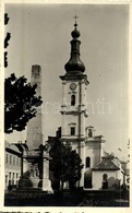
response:
[[[64,68],[68,74],[82,74],[85,71],[84,63],[80,59],[80,45],[81,42],[77,39],[80,37],[80,32],[77,31],[77,16],[74,16],[75,24],[74,29],[72,31],[72,40],[71,40],[71,58],[65,63]]]

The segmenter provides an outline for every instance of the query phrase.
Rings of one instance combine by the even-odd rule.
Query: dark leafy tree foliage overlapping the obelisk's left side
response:
[[[23,75],[19,79],[14,73],[4,81],[4,132],[22,131],[27,122],[36,116],[41,97],[36,96],[37,85],[27,83]]]

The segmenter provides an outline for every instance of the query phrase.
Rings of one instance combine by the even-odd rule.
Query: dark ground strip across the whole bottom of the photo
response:
[[[8,192],[5,206],[129,206],[129,192],[77,191],[59,194]]]

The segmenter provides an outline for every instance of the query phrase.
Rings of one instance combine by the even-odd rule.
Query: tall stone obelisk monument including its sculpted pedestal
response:
[[[41,96],[41,68],[32,67],[31,84],[36,87],[36,96]],[[41,145],[41,146],[40,146]],[[27,146],[28,150],[23,155],[23,177],[22,188],[41,189],[52,191],[49,180],[49,153],[43,147],[43,114],[41,106],[37,107],[37,113],[27,125]]]

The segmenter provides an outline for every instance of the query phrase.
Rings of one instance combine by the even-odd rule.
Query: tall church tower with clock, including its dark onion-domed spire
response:
[[[84,74],[85,66],[80,59],[81,42],[76,21],[71,35],[71,57],[64,66],[67,73],[60,76],[62,80],[61,140],[64,143],[70,143],[72,149],[79,153],[82,163],[85,164],[86,90],[88,81],[87,75]],[[84,169],[80,181],[80,187],[83,186]]]

